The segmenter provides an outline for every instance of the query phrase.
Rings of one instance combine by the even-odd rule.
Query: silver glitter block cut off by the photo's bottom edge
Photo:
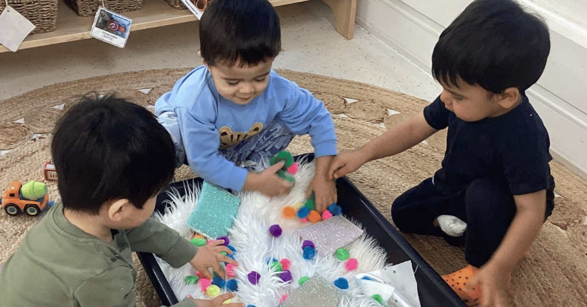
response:
[[[308,278],[303,285],[292,291],[279,307],[338,307],[346,293],[319,274]]]

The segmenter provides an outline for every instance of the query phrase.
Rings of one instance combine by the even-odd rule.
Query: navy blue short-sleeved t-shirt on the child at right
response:
[[[424,118],[434,129],[448,127],[442,167],[434,174],[444,192],[477,178],[505,179],[513,195],[554,190],[548,132],[525,95],[510,112],[477,122],[458,119],[439,96],[424,108]]]

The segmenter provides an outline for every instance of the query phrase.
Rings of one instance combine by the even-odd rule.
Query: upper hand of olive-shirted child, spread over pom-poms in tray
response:
[[[191,266],[193,266],[194,269],[200,271],[207,279],[214,278],[210,271],[208,271],[208,268],[212,268],[214,272],[217,272],[218,275],[222,277],[222,279],[226,278],[226,273],[218,262],[228,262],[232,265],[238,265],[238,262],[226,255],[220,254],[220,252],[227,252],[228,254],[232,254],[230,248],[222,245],[223,243],[224,240],[214,240],[204,245],[203,247],[199,247],[198,252],[195,253],[194,258],[190,260]]]

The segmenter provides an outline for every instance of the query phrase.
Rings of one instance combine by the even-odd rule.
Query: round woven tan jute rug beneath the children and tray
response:
[[[152,105],[187,71],[146,70],[92,77],[43,87],[0,102],[0,145],[13,148],[0,157],[0,188],[4,189],[12,180],[44,181],[43,163],[51,158],[50,133],[34,134],[33,140],[31,133],[33,130],[48,131],[59,112],[43,113],[43,110],[64,103],[66,109],[90,91],[117,91],[137,104]],[[410,114],[421,112],[427,104],[424,100],[365,83],[289,70],[279,70],[279,73],[311,90],[325,102],[333,113],[339,150],[365,144],[383,133],[384,126],[393,126]],[[144,93],[146,89],[150,91]],[[25,119],[23,124],[12,124],[22,118]],[[349,178],[391,220],[393,200],[432,176],[440,167],[445,139],[446,131],[440,131],[426,144],[367,163]],[[289,149],[301,154],[312,151],[312,146],[308,137],[296,137]],[[512,275],[512,306],[587,306],[587,182],[555,161],[551,168],[558,194],[556,207],[532,245],[529,258]],[[177,170],[177,180],[191,177],[194,174],[189,168],[184,166]],[[59,200],[55,181],[48,181],[48,188],[50,199]],[[10,217],[0,212],[0,263],[15,251],[26,231],[39,218]],[[404,234],[404,237],[439,274],[456,271],[465,265],[463,248],[450,247],[435,237],[410,234]],[[158,306],[160,301],[151,282],[140,263],[135,263],[140,271],[135,288],[137,305]]]

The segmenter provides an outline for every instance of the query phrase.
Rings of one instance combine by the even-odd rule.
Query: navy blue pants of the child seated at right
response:
[[[552,214],[554,193],[546,193],[545,219]],[[448,244],[465,245],[465,260],[477,268],[495,252],[510,227],[516,207],[505,180],[483,178],[457,193],[443,193],[428,178],[396,198],[392,218],[403,232],[443,237]],[[438,215],[454,215],[467,223],[461,237],[451,237],[433,221]]]

